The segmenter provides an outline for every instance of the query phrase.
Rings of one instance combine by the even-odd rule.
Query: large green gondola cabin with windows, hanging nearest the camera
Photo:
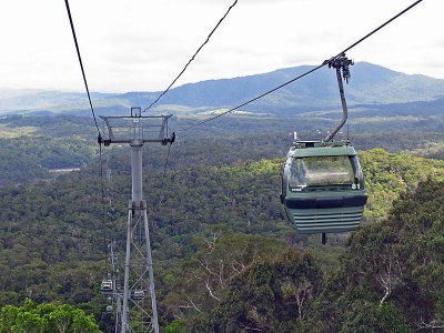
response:
[[[281,201],[300,233],[356,230],[367,193],[353,147],[296,141],[283,168]]]

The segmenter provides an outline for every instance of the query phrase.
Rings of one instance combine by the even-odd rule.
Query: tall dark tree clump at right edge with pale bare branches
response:
[[[402,194],[386,221],[352,235],[320,299],[326,331],[352,332],[371,323],[384,332],[444,326],[442,186],[432,179],[421,182]]]

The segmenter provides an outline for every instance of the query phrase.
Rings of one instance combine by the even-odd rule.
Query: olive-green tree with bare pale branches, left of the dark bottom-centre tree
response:
[[[211,311],[233,279],[254,261],[274,259],[287,249],[279,239],[214,229],[195,239],[198,252],[183,263],[181,278],[167,295],[164,305],[171,316]]]

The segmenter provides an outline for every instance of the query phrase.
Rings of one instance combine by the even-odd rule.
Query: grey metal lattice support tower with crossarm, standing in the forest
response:
[[[127,250],[123,295],[118,297],[117,332],[159,333],[154,272],[151,256],[147,202],[142,191],[142,147],[147,142],[163,145],[174,142],[168,135],[172,115],[141,115],[141,108],[131,108],[131,117],[101,117],[107,137],[101,143],[129,144],[131,149],[132,194],[128,205]]]

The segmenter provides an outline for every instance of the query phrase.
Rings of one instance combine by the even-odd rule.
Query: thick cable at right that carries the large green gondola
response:
[[[276,90],[282,89],[282,88],[285,87],[285,85],[289,85],[290,83],[293,83],[294,81],[297,81],[297,80],[300,80],[300,79],[302,79],[302,78],[304,78],[304,77],[311,74],[312,72],[314,72],[314,71],[316,71],[316,70],[323,68],[324,65],[329,64],[330,61],[340,58],[342,54],[344,54],[345,52],[350,51],[351,49],[353,49],[354,47],[356,47],[357,44],[360,44],[361,42],[363,42],[363,41],[364,41],[365,39],[367,39],[369,37],[373,36],[374,33],[376,33],[376,32],[380,31],[381,29],[383,29],[383,28],[384,28],[385,26],[387,26],[389,23],[391,23],[391,22],[393,22],[394,20],[396,20],[398,17],[401,17],[402,14],[404,14],[405,12],[407,12],[408,10],[411,10],[413,7],[415,7],[416,4],[418,4],[418,3],[422,2],[422,1],[423,1],[423,0],[417,0],[417,1],[415,1],[415,2],[412,3],[411,6],[408,6],[407,8],[405,8],[404,10],[402,10],[401,12],[398,12],[397,14],[395,14],[394,17],[392,17],[390,20],[385,21],[383,24],[379,26],[376,29],[372,30],[371,32],[369,32],[367,34],[365,34],[363,38],[359,39],[356,42],[354,42],[354,43],[351,44],[350,47],[345,48],[343,51],[341,51],[341,52],[337,53],[336,56],[330,58],[329,60],[325,60],[325,61],[324,61],[323,63],[321,63],[320,65],[317,65],[317,67],[315,67],[315,68],[313,68],[313,69],[311,69],[311,70],[309,70],[309,71],[306,71],[306,72],[304,72],[304,73],[302,73],[302,74],[300,74],[300,75],[297,75],[296,78],[291,79],[290,81],[286,81],[286,82],[284,82],[284,83],[282,83],[282,84],[278,85],[276,88],[273,88],[273,89],[271,89],[271,90],[269,90],[269,91],[266,91],[266,92],[264,92],[264,93],[262,93],[262,94],[260,94],[260,95],[258,95],[258,97],[255,97],[255,98],[253,98],[253,99],[251,99],[251,100],[249,100],[249,101],[246,101],[246,102],[244,102],[244,103],[242,103],[242,104],[240,104],[240,105],[238,105],[238,107],[234,107],[234,108],[229,109],[229,110],[226,110],[226,111],[224,111],[224,112],[222,112],[222,113],[219,113],[219,114],[216,114],[216,115],[214,115],[214,117],[212,117],[212,118],[209,118],[209,119],[205,119],[205,120],[203,120],[203,121],[196,122],[196,123],[194,123],[194,124],[192,124],[192,125],[189,125],[189,127],[182,129],[182,131],[191,130],[191,129],[193,129],[193,128],[195,128],[195,127],[202,125],[202,124],[208,123],[208,122],[210,122],[210,121],[213,121],[213,120],[215,120],[215,119],[218,119],[218,118],[221,118],[221,117],[223,117],[223,115],[225,115],[225,114],[229,114],[229,113],[231,113],[231,112],[233,112],[233,111],[235,111],[235,110],[238,110],[238,109],[240,109],[240,108],[243,108],[243,107],[245,107],[245,105],[248,105],[248,104],[250,104],[250,103],[252,103],[252,102],[254,102],[254,101],[256,101],[256,100],[259,100],[259,99],[264,98],[265,95],[268,95],[268,94],[270,94],[270,93],[272,93],[272,92],[274,92],[274,91],[276,91]]]

